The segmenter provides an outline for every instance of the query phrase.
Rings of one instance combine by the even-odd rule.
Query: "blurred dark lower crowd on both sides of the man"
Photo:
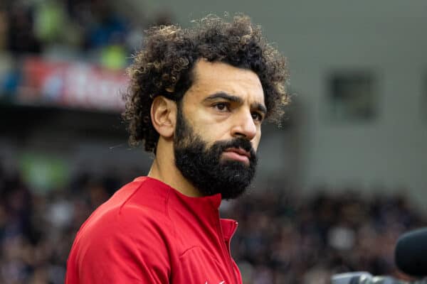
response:
[[[76,174],[41,193],[19,171],[0,170],[0,283],[63,283],[78,228],[137,171],[119,175]],[[223,202],[221,215],[239,222],[232,254],[246,284],[329,283],[347,271],[396,276],[396,239],[427,224],[405,197],[366,199],[357,190],[302,197],[253,189]]]

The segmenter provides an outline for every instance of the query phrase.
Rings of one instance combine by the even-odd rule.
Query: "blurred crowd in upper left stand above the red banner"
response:
[[[170,23],[171,16],[162,11],[132,21],[132,17],[117,11],[114,3],[104,0],[1,1],[0,55],[3,52],[15,58],[39,55],[84,60],[121,69],[141,44],[143,30],[154,24]],[[127,10],[132,14],[132,9]]]

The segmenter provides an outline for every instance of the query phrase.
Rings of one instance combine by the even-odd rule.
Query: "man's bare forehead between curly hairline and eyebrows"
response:
[[[258,75],[252,70],[223,62],[199,60],[194,66],[192,95],[204,99],[210,94],[225,92],[249,102],[264,104],[264,92]]]

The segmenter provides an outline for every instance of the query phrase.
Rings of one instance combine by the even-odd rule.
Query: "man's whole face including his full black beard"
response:
[[[179,106],[176,167],[203,195],[235,198],[255,175],[265,116],[263,88],[251,70],[200,60]]]

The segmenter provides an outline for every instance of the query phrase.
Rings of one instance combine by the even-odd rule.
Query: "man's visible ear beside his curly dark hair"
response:
[[[164,138],[172,138],[176,123],[176,103],[172,99],[157,96],[150,110],[154,129]]]

